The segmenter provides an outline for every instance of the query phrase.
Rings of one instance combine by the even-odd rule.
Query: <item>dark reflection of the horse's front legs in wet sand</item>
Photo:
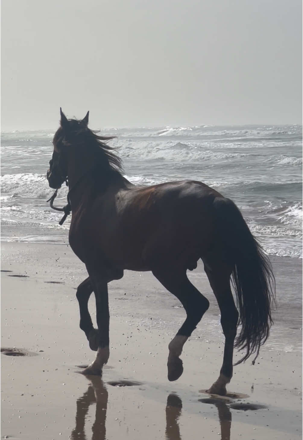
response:
[[[95,421],[92,425],[92,440],[105,440],[106,438],[106,411],[108,392],[100,377],[90,376],[90,384],[87,391],[77,400],[76,426],[73,429],[71,440],[86,440],[85,417],[89,406],[96,403]]]

